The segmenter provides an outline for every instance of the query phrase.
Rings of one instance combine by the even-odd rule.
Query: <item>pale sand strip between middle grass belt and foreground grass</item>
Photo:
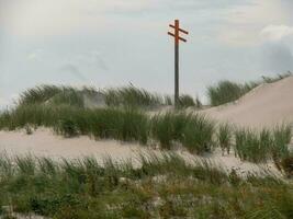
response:
[[[65,139],[54,135],[49,129],[44,128],[37,129],[30,136],[24,134],[24,131],[0,131],[0,153],[7,153],[9,155],[33,154],[36,157],[49,157],[55,160],[59,160],[60,158],[77,159],[90,155],[97,158],[100,162],[110,155],[116,161],[131,159],[137,165],[138,154],[149,152],[161,154],[160,150],[129,142],[122,143],[115,140],[95,141],[86,136]],[[223,157],[219,150],[206,157],[196,157],[184,150],[177,150],[176,152],[187,161],[204,158],[227,170],[236,169],[239,173],[260,171],[259,166],[249,162],[241,162],[234,154]],[[272,164],[263,165],[262,168],[270,169],[274,173],[277,172]]]

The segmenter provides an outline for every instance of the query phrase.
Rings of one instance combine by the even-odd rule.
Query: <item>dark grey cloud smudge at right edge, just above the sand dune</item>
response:
[[[293,55],[288,45],[283,43],[266,44],[262,51],[264,70],[275,73],[293,70]]]

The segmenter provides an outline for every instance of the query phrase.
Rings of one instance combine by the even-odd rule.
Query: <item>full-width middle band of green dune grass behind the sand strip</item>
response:
[[[275,163],[289,154],[292,136],[291,125],[261,132],[240,128],[234,135],[228,124],[216,127],[200,114],[174,111],[149,117],[133,107],[90,110],[64,104],[24,104],[0,115],[0,130],[25,128],[31,135],[40,126],[53,128],[65,137],[88,135],[142,145],[155,140],[162,149],[180,145],[198,154],[213,151],[216,143],[223,152],[229,152],[235,138],[234,151],[241,160],[266,162],[273,159]]]

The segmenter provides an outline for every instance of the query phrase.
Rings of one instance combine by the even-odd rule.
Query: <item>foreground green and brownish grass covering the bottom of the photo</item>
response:
[[[15,164],[13,164],[15,163]],[[60,219],[293,217],[293,187],[271,175],[240,177],[172,153],[102,164],[32,157],[0,159],[0,203]]]

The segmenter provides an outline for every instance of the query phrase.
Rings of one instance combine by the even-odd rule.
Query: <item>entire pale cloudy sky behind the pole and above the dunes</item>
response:
[[[40,84],[173,92],[204,99],[219,80],[293,71],[292,0],[0,0],[0,107]]]

